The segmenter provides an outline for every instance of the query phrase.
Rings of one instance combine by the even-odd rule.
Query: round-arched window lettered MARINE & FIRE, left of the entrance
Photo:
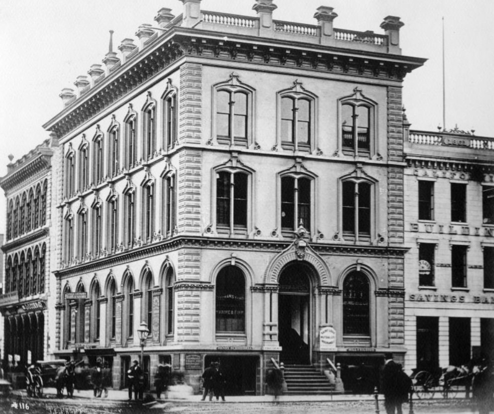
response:
[[[216,332],[245,332],[245,276],[236,266],[216,277]]]

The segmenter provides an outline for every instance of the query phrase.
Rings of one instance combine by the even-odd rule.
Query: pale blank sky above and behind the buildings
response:
[[[255,16],[254,0],[202,0],[201,8]],[[316,24],[320,5],[334,7],[334,26],[373,30],[387,15],[401,17],[402,54],[427,58],[405,77],[403,103],[412,129],[442,125],[442,17],[446,43],[446,127],[494,136],[493,0],[275,0],[277,20]],[[8,154],[14,161],[48,137],[41,125],[62,109],[63,88],[101,63],[114,30],[114,50],[135,38],[142,23],[155,25],[161,7],[178,15],[179,0],[1,0],[0,176]],[[136,39],[137,40],[137,39]],[[137,42],[135,42],[137,44]],[[0,233],[5,227],[0,197]]]

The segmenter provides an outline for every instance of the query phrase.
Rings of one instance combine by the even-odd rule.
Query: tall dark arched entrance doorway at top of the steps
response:
[[[287,266],[279,279],[278,330],[281,361],[310,362],[310,269],[302,263]]]

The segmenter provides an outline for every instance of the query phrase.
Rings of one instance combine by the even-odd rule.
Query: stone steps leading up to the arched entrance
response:
[[[331,394],[334,386],[312,365],[285,364],[285,381],[290,395]]]

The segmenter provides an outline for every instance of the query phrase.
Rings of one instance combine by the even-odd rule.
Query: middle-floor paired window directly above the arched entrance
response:
[[[312,179],[288,175],[281,178],[281,226],[295,231],[300,225],[310,231]]]

